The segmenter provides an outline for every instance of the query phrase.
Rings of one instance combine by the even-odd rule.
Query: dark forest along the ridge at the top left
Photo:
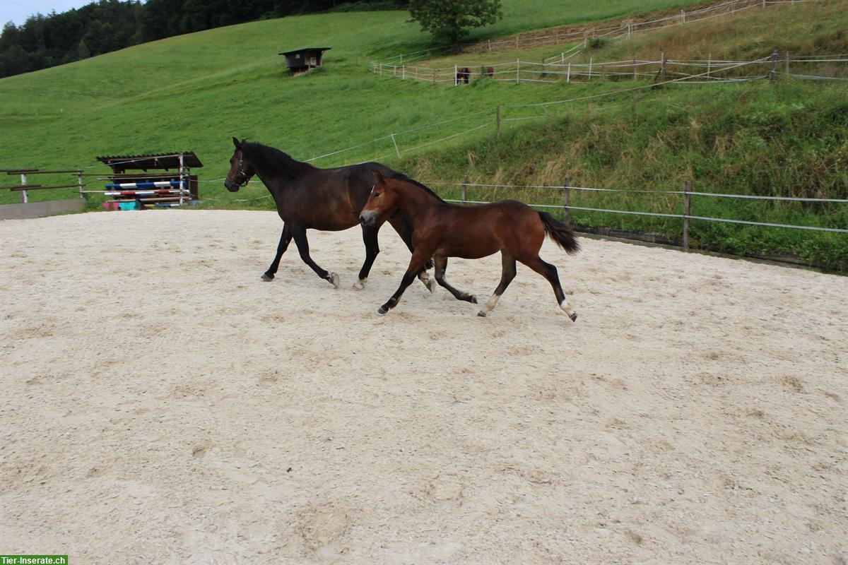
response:
[[[72,63],[144,42],[255,19],[405,8],[408,0],[99,0],[3,25],[0,77]]]

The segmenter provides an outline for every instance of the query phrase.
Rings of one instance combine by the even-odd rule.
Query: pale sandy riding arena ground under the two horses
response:
[[[848,280],[547,241],[488,318],[390,229],[0,223],[0,553],[155,563],[848,561]],[[499,258],[452,259],[488,296]]]

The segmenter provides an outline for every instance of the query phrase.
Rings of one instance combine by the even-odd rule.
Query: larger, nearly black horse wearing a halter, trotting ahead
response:
[[[230,158],[230,172],[226,175],[226,190],[236,192],[248,183],[251,177],[259,179],[271,192],[276,202],[276,211],[283,221],[280,243],[276,247],[276,256],[271,267],[262,275],[262,280],[273,280],[280,267],[280,258],[286,252],[290,241],[298,246],[300,258],[310,266],[321,279],[327,280],[338,288],[338,274],[321,269],[310,257],[310,244],[306,240],[306,230],[338,231],[347,230],[359,224],[360,210],[365,205],[371,186],[374,185],[372,170],[377,170],[388,178],[415,182],[404,174],[393,171],[380,163],[363,163],[338,167],[337,169],[318,169],[309,163],[302,163],[286,153],[251,141],[238,141],[232,138],[236,151]],[[412,224],[400,212],[388,214],[388,220],[398,232],[406,246],[412,251]],[[368,273],[380,247],[377,245],[377,224],[362,226],[362,240],[365,241],[365,263],[362,263],[359,280],[354,289],[361,290],[368,280]],[[433,291],[435,283],[429,280],[427,268],[423,264],[418,275],[421,282]]]

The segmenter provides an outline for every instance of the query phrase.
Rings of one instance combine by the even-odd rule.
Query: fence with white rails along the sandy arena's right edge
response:
[[[533,208],[551,208],[562,210],[563,217],[568,221],[569,219],[569,211],[571,210],[581,210],[585,212],[601,212],[601,213],[616,213],[616,214],[628,214],[628,215],[639,215],[639,216],[652,216],[659,218],[674,218],[680,219],[682,221],[682,229],[681,229],[681,241],[683,251],[689,251],[689,222],[690,220],[698,220],[698,221],[706,221],[706,222],[721,222],[725,224],[745,224],[745,225],[757,225],[763,227],[774,227],[774,228],[787,228],[792,230],[812,230],[812,231],[825,231],[831,233],[848,233],[848,230],[842,228],[827,228],[822,226],[813,226],[813,225],[794,225],[794,224],[774,224],[771,222],[759,222],[759,221],[751,221],[744,219],[729,219],[729,218],[712,218],[710,216],[698,216],[694,215],[691,212],[691,205],[693,197],[711,197],[711,198],[737,198],[737,199],[746,199],[746,200],[760,200],[760,201],[771,201],[771,202],[817,202],[817,203],[840,203],[845,204],[848,203],[848,199],[846,198],[810,198],[810,197],[766,197],[766,196],[757,196],[750,194],[724,194],[719,192],[701,192],[701,191],[692,191],[691,190],[691,181],[687,180],[683,186],[682,191],[654,191],[654,190],[629,190],[629,189],[616,189],[616,188],[594,188],[589,186],[572,186],[568,179],[561,186],[552,186],[552,185],[495,185],[495,184],[483,184],[483,183],[471,183],[466,179],[463,179],[461,182],[437,182],[431,181],[425,183],[429,186],[458,186],[460,187],[460,198],[459,199],[445,199],[445,202],[452,202],[458,204],[489,204],[491,202],[485,200],[475,200],[468,197],[468,189],[471,188],[492,188],[492,189],[512,189],[512,190],[522,190],[522,189],[534,189],[534,190],[544,190],[544,191],[559,191],[561,193],[561,204],[528,204]],[[650,195],[658,195],[658,196],[674,196],[674,197],[683,197],[683,213],[659,213],[659,212],[643,212],[637,210],[620,210],[620,209],[612,209],[612,208],[590,208],[584,206],[574,206],[571,203],[572,191],[585,191],[585,192],[607,192],[607,193],[638,193],[638,194],[650,194]]]

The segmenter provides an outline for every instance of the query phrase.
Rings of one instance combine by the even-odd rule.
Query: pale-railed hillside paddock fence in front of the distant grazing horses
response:
[[[577,46],[579,47],[579,46]],[[402,64],[372,63],[371,71],[380,76],[400,80],[417,80],[431,84],[462,86],[476,77],[507,83],[588,82],[590,80],[665,80],[669,77],[691,78],[700,76],[701,82],[739,82],[745,80],[774,80],[775,76],[787,75],[800,79],[848,80],[848,55],[783,55],[773,52],[768,58],[755,61],[732,61],[721,58],[674,59],[667,53],[660,58],[646,60],[630,58],[620,61],[594,61],[574,63],[568,58],[578,51],[563,52],[554,58],[541,61],[513,61],[483,64],[457,63],[448,68],[421,67]],[[728,69],[742,64],[757,64],[758,68],[747,75],[722,75]],[[793,66],[795,72],[792,72]],[[706,70],[706,72],[704,72]],[[815,70],[823,74],[812,75]],[[803,72],[802,72],[803,71]],[[694,81],[689,84],[695,84]]]

